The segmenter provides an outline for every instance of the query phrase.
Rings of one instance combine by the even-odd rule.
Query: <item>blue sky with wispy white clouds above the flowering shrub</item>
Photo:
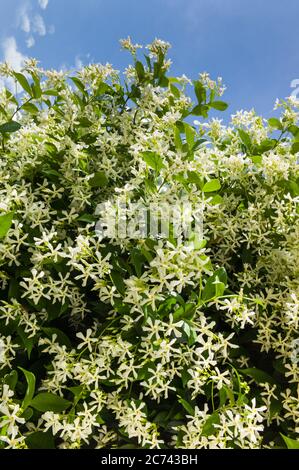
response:
[[[90,61],[123,70],[119,39],[172,44],[172,75],[222,76],[228,113],[269,117],[299,79],[298,0],[0,0],[0,60],[43,67]]]

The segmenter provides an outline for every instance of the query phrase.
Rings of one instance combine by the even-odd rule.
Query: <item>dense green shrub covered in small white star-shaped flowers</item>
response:
[[[124,76],[1,66],[0,446],[298,447],[299,103],[225,126],[221,79],[122,44]],[[101,235],[119,201],[201,236]]]

